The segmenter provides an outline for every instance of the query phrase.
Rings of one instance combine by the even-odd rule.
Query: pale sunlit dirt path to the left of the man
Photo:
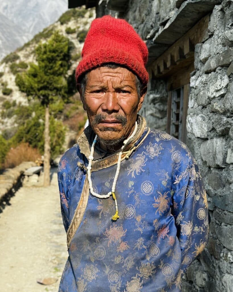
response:
[[[21,187],[0,214],[0,291],[57,292],[68,257],[57,173],[50,187]],[[51,285],[38,278],[55,277]]]

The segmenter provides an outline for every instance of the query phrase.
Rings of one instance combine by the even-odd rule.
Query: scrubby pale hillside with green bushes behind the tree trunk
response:
[[[78,135],[83,128],[86,114],[80,96],[76,93],[74,74],[81,57],[83,42],[94,17],[94,9],[86,10],[83,6],[70,9],[61,15],[57,22],[2,60],[0,64],[0,168],[14,166],[12,157],[9,156],[13,155],[15,158],[20,156],[24,146],[43,155],[45,112],[44,103],[40,100],[42,95],[50,99],[52,158],[61,154],[65,150],[64,146],[68,146],[64,145],[64,142],[66,140],[67,143],[69,140],[67,138],[70,132]],[[66,52],[61,52],[61,48],[60,51],[59,48],[54,50],[54,54],[63,53],[64,57],[63,60],[56,62],[56,67],[53,68],[51,63],[58,55],[46,56],[41,50],[46,48],[47,43],[51,44],[54,38],[60,38],[67,45],[63,46]],[[38,70],[38,64],[43,61],[41,58],[51,60],[52,75],[49,79],[43,76],[40,69]],[[57,72],[57,76],[53,76],[54,72]],[[43,84],[47,84],[47,91],[43,89]],[[18,157],[15,159],[15,165],[19,160]],[[27,157],[24,157],[24,160],[27,160]],[[10,165],[7,161],[11,161]]]

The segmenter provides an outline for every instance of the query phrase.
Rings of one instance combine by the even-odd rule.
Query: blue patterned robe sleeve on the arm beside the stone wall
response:
[[[180,242],[184,274],[192,261],[204,250],[209,238],[209,213],[206,190],[192,154],[187,166],[174,177],[172,213]]]

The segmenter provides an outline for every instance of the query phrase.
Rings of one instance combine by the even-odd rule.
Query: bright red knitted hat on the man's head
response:
[[[78,82],[84,72],[113,62],[129,68],[146,85],[149,79],[145,68],[147,59],[146,44],[133,27],[123,19],[106,15],[91,23],[75,78]]]

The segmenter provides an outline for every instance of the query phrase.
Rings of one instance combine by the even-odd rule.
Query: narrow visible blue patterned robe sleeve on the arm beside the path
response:
[[[66,171],[64,171],[62,164],[62,160],[59,162],[58,170],[57,170],[57,178],[58,178],[58,186],[59,186],[59,193],[60,193],[60,201],[61,201],[61,215],[63,220],[63,225],[67,232],[70,220],[69,220],[69,190],[66,184],[65,175]]]

